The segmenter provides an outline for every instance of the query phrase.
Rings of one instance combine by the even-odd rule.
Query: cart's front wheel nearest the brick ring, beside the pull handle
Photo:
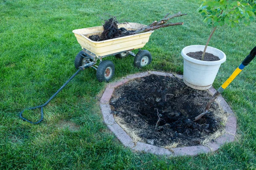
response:
[[[115,73],[115,66],[112,61],[104,60],[102,61],[96,72],[96,77],[99,82],[109,82]]]

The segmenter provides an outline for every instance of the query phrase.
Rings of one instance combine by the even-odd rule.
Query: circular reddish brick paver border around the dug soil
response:
[[[124,83],[140,78],[146,77],[151,74],[156,74],[160,76],[169,76],[169,77],[178,77],[180,79],[183,78],[182,75],[179,74],[172,74],[172,73],[165,73],[159,71],[147,71],[143,73],[137,73],[128,75],[125,78],[118,80],[117,82],[110,83],[107,88],[105,89],[102,98],[100,99],[100,107],[103,115],[103,119],[105,124],[108,128],[116,135],[117,139],[119,139],[125,147],[130,147],[132,150],[142,151],[145,153],[153,153],[157,155],[169,155],[169,156],[194,156],[198,155],[199,153],[208,153],[210,151],[215,151],[220,148],[226,142],[233,142],[236,136],[236,116],[234,115],[232,109],[227,104],[225,99],[220,95],[216,99],[217,102],[220,103],[220,107],[223,109],[224,112],[229,113],[227,117],[227,123],[225,127],[225,133],[222,136],[219,136],[215,139],[215,142],[208,142],[207,144],[199,145],[199,146],[189,146],[189,147],[177,147],[172,148],[171,150],[165,149],[163,147],[157,147],[151,144],[145,144],[142,142],[134,143],[130,136],[120,127],[111,113],[111,107],[109,105],[109,100],[113,94],[114,88],[123,85]],[[208,90],[211,94],[215,93],[214,88],[210,88]]]

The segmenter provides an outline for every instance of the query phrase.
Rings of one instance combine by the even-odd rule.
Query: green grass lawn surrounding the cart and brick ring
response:
[[[151,35],[143,48],[153,56],[151,65],[137,69],[133,57],[107,58],[116,67],[114,80],[147,70],[182,74],[182,48],[204,45],[211,31],[198,6],[198,0],[0,0],[0,169],[256,169],[256,61],[223,93],[238,119],[237,140],[213,153],[165,157],[125,148],[103,123],[99,98],[107,83],[98,82],[91,68],[44,108],[39,125],[18,117],[24,108],[46,102],[76,72],[74,59],[81,47],[72,31],[100,26],[107,14],[119,22],[148,25],[167,13],[187,13],[173,20],[183,26]],[[209,46],[227,55],[215,88],[256,45],[255,30],[253,22],[238,32],[215,31]],[[36,120],[39,111],[24,116]]]

